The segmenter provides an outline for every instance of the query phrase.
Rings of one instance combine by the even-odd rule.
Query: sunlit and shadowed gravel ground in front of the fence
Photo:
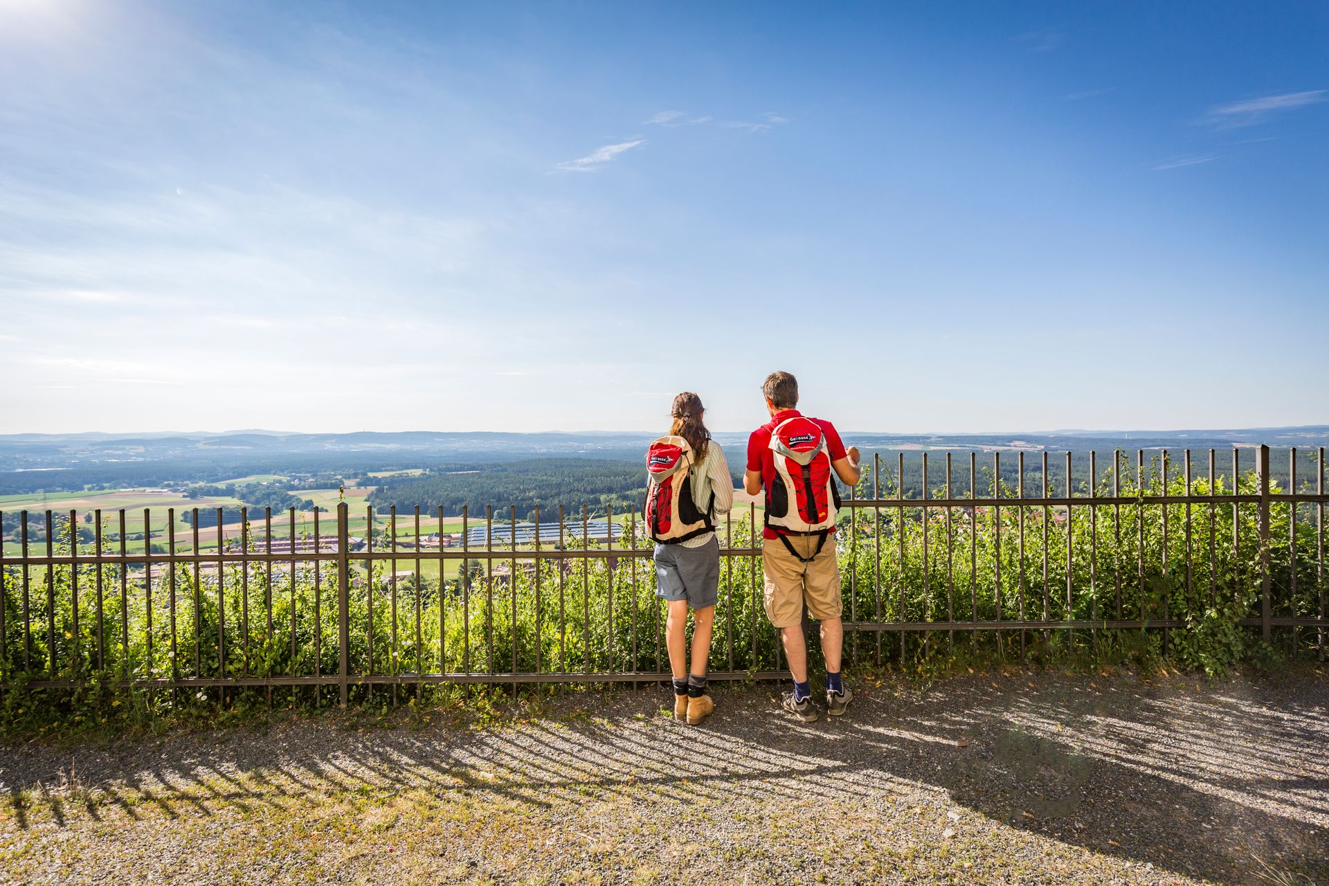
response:
[[[1329,679],[970,676],[801,725],[719,687],[498,729],[0,748],[0,882],[1329,883]],[[1293,874],[1301,878],[1292,878]]]

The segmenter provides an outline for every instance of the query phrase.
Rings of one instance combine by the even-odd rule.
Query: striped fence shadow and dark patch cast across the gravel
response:
[[[722,692],[703,728],[667,720],[658,691],[609,693],[595,719],[570,696],[570,717],[498,731],[298,721],[73,760],[23,751],[0,762],[0,782],[19,829],[37,808],[72,828],[384,794],[522,814],[751,805],[795,830],[844,806],[855,814],[839,826],[868,843],[884,838],[876,822],[917,816],[936,841],[948,826],[1010,826],[1220,883],[1251,882],[1256,857],[1329,879],[1329,685],[997,679],[921,696],[868,688],[851,716],[807,725],[777,717],[760,688]]]

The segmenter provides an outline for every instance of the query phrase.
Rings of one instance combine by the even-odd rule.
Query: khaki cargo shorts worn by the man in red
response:
[[[816,535],[788,535],[793,550],[811,557]],[[803,622],[803,603],[819,622],[840,618],[840,565],[835,555],[835,535],[827,538],[811,563],[803,563],[779,538],[762,541],[762,571],[766,573],[766,616],[777,628]]]

